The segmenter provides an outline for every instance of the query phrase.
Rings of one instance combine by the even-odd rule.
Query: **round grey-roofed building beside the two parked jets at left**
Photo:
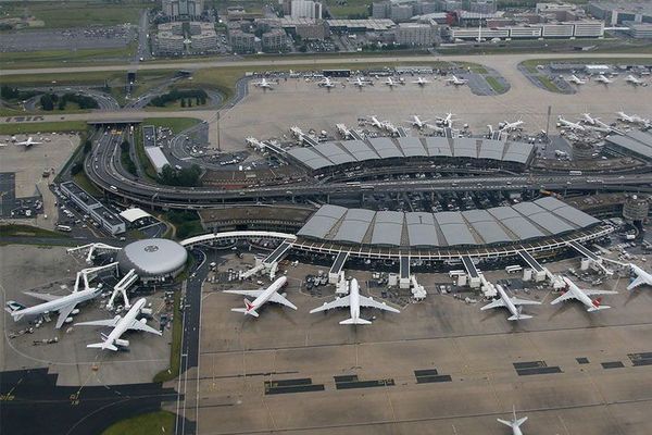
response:
[[[186,266],[188,252],[173,240],[148,238],[125,246],[117,254],[123,274],[131,269],[142,282],[173,278]]]

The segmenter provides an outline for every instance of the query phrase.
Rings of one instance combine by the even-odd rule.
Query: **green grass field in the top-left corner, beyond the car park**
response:
[[[151,8],[151,3],[126,1],[109,3],[103,1],[61,2],[2,2],[4,17],[21,17],[25,13],[42,21],[39,28],[71,28],[90,25],[113,26],[124,23],[138,23],[139,11]]]

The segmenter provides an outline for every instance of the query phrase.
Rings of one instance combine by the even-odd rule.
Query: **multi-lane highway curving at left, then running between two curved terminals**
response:
[[[87,157],[89,178],[102,189],[135,202],[158,207],[201,209],[229,202],[298,197],[326,197],[334,194],[403,191],[482,191],[482,190],[625,190],[652,192],[652,174],[613,175],[513,175],[455,176],[448,178],[392,179],[364,183],[319,185],[275,185],[242,189],[173,187],[156,185],[127,174],[120,165],[121,136],[103,135]]]

